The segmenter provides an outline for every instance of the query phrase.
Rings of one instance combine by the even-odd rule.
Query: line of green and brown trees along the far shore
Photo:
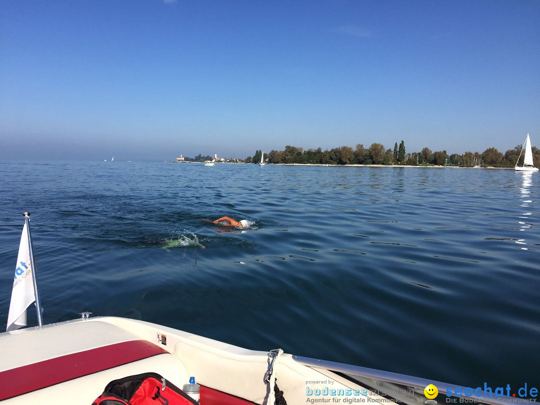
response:
[[[407,153],[405,143],[394,144],[394,149],[386,149],[382,144],[374,143],[368,148],[357,144],[353,149],[350,146],[340,146],[322,151],[318,149],[303,150],[301,147],[287,145],[285,150],[272,150],[265,154],[267,163],[275,164],[320,164],[320,165],[408,165],[408,166],[460,166],[460,167],[514,167],[522,150],[522,145],[506,151],[504,154],[496,148],[490,147],[484,152],[465,152],[463,154],[448,154],[446,150],[432,152],[424,147],[420,152]],[[255,151],[253,157],[246,158],[246,162],[259,163],[261,151]],[[540,166],[540,150],[532,147],[532,155],[536,167]],[[522,156],[523,159],[523,156]]]

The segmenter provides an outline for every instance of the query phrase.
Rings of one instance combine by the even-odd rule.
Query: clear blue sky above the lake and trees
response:
[[[540,146],[538,0],[2,0],[0,159]]]

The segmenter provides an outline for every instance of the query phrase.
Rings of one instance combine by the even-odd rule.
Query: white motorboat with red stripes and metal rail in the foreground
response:
[[[282,350],[248,350],[155,323],[114,317],[0,333],[0,359],[0,402],[17,405],[64,400],[89,405],[110,381],[149,372],[177,387],[194,376],[200,384],[200,405],[273,405],[274,384],[289,405],[419,405],[426,400],[424,388],[432,383],[440,392],[443,387],[458,392],[454,384]],[[459,389],[463,393],[464,388]],[[471,399],[492,402],[483,392],[475,391]]]

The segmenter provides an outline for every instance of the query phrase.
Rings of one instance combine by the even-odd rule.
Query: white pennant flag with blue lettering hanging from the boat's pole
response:
[[[26,308],[34,301],[36,301],[36,295],[33,288],[28,230],[26,230],[25,222],[15,268],[15,280],[13,281],[13,289],[11,290],[11,303],[9,305],[8,328],[6,332],[26,326]]]

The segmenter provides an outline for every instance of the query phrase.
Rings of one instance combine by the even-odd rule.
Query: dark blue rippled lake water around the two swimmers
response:
[[[463,386],[540,385],[539,173],[115,161],[3,162],[0,177],[3,328],[29,211],[45,323],[90,311]],[[204,221],[223,215],[249,228]]]

